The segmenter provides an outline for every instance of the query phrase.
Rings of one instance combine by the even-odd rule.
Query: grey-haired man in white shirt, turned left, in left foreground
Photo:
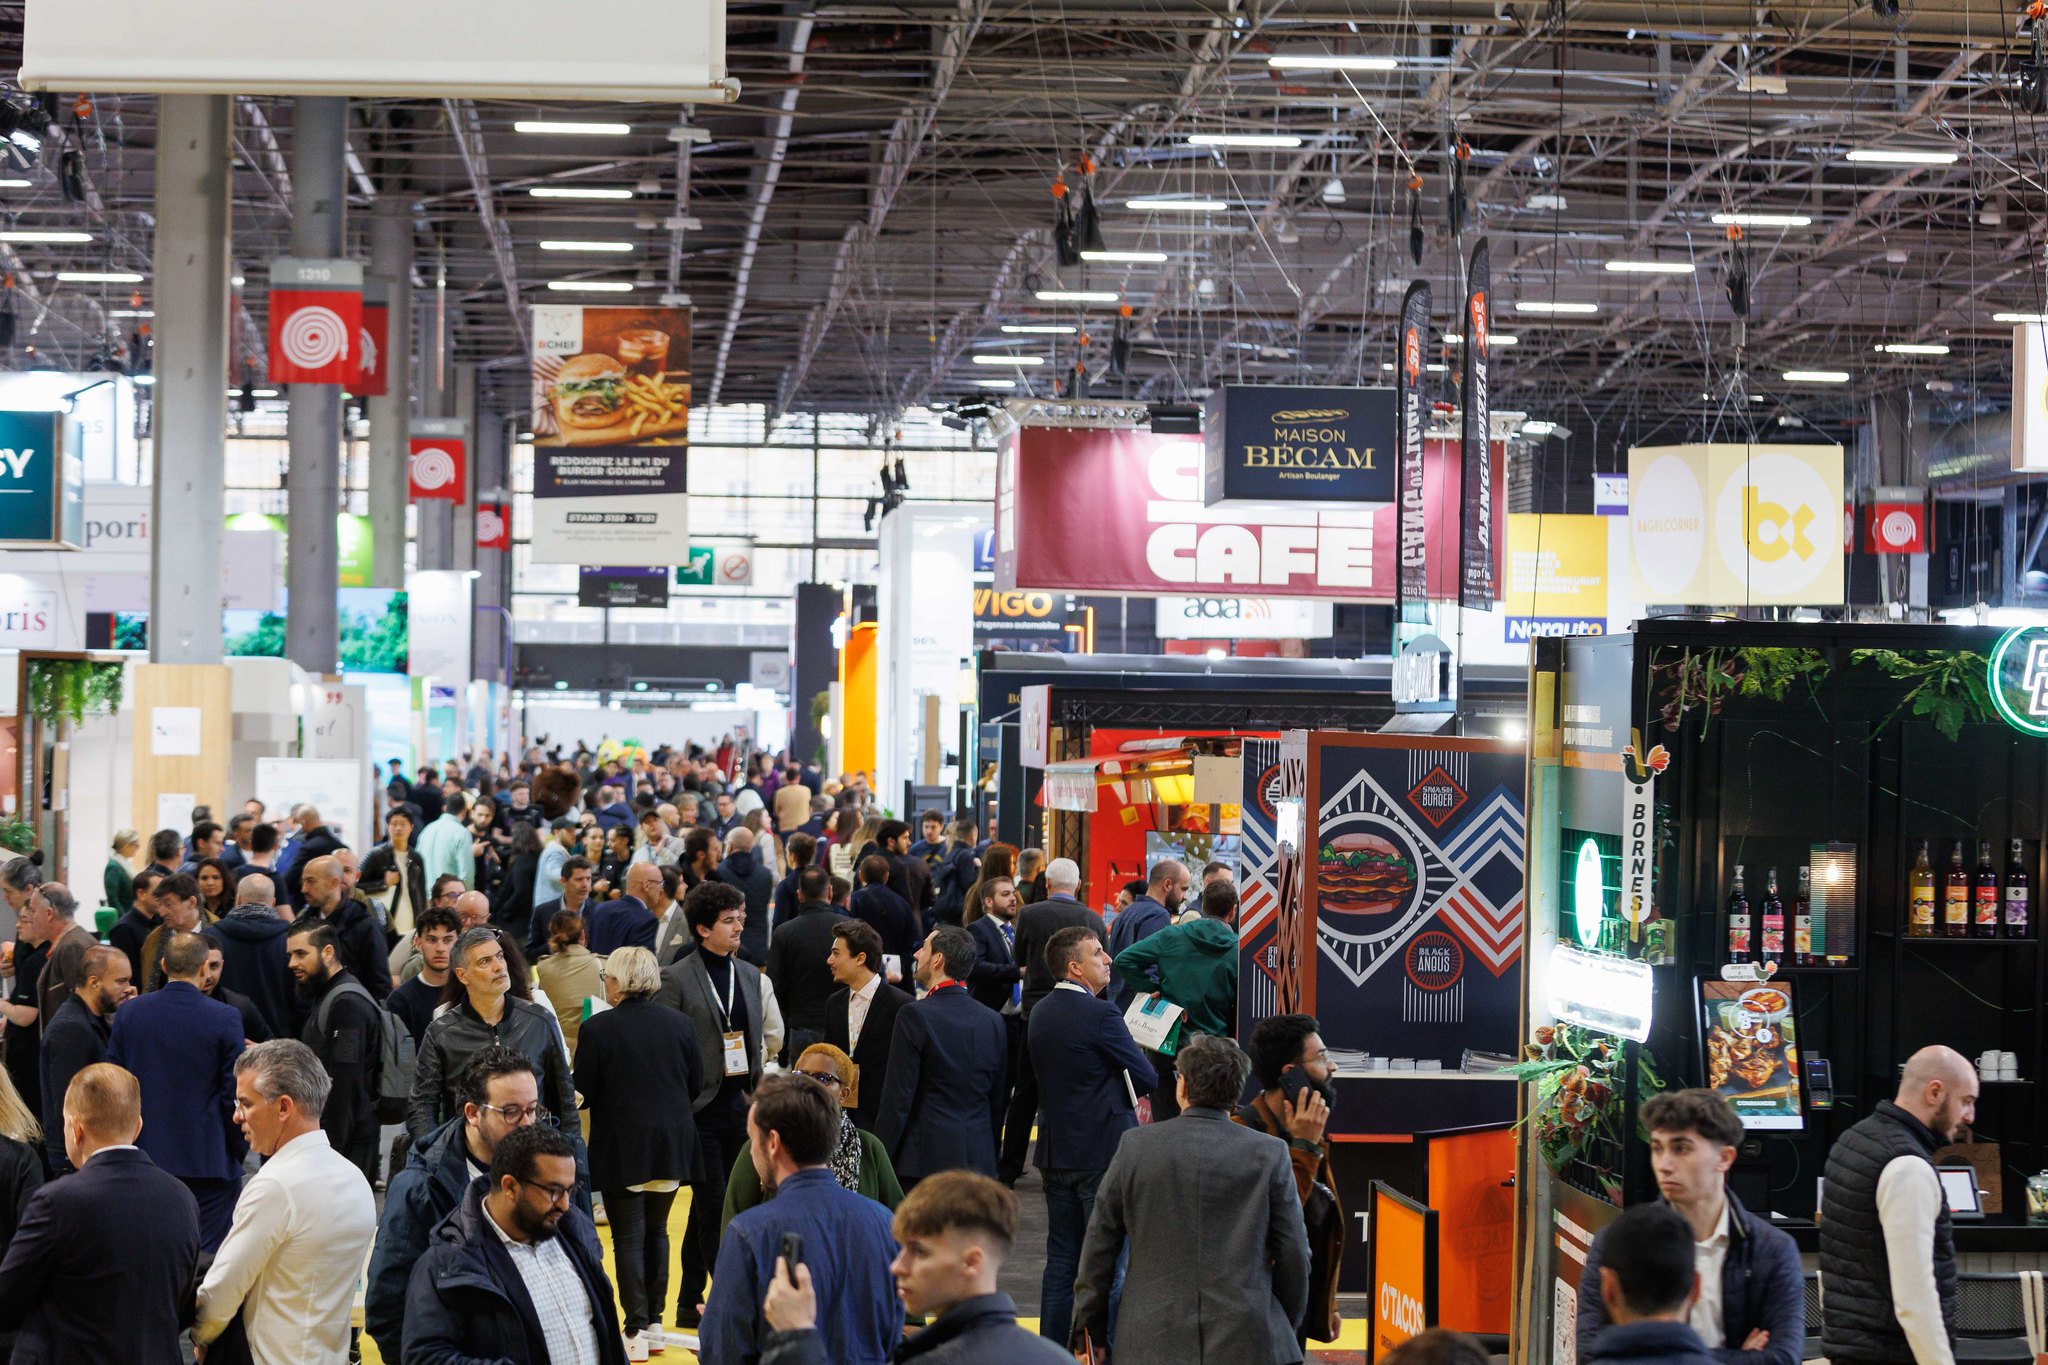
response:
[[[236,1060],[236,1121],[264,1156],[199,1285],[193,1342],[242,1314],[256,1365],[344,1365],[348,1312],[377,1234],[377,1197],[319,1132],[328,1072],[305,1044],[256,1044]]]

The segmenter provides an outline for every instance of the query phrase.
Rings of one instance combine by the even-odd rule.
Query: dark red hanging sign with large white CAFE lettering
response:
[[[1493,448],[1501,481],[1503,448]],[[1458,596],[1458,442],[1423,446],[1430,596]],[[1020,428],[995,467],[995,587],[1393,602],[1395,505],[1208,508],[1202,438]],[[1505,542],[1495,499],[1493,544]],[[1499,575],[1495,573],[1495,579]]]

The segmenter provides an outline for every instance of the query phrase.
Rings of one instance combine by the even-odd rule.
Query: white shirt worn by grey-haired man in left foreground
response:
[[[193,1338],[211,1342],[242,1310],[256,1365],[344,1365],[373,1236],[369,1181],[328,1146],[328,1134],[299,1134],[242,1187],[227,1240],[199,1285]]]

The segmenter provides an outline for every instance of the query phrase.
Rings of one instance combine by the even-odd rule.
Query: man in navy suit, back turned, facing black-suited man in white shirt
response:
[[[1006,1036],[1001,1017],[967,993],[975,956],[967,929],[932,929],[915,962],[926,997],[897,1011],[874,1136],[905,1189],[940,1171],[995,1175]]]

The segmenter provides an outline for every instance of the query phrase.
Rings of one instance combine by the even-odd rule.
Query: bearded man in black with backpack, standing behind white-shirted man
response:
[[[285,937],[285,964],[299,982],[305,1031],[299,1036],[326,1068],[332,1089],[319,1111],[328,1144],[377,1183],[377,1066],[383,1019],[354,972],[342,966],[334,925],[301,919]]]

